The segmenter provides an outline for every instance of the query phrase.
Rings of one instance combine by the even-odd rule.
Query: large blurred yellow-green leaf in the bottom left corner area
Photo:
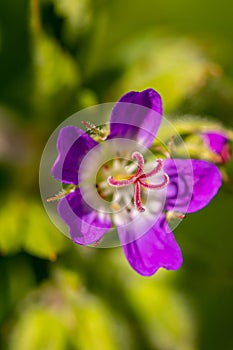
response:
[[[59,269],[21,306],[9,349],[115,350],[116,335],[104,302],[82,288],[77,274]]]

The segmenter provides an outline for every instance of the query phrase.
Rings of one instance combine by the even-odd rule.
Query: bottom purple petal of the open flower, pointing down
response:
[[[132,234],[124,226],[119,227],[118,232],[120,239]],[[161,267],[177,270],[182,264],[181,250],[164,214],[142,237],[123,245],[123,251],[132,268],[143,276],[153,275]]]

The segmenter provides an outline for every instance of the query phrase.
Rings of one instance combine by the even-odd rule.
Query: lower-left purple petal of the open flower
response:
[[[58,213],[69,226],[71,239],[82,245],[98,241],[112,226],[108,215],[93,210],[84,202],[79,189],[58,203]]]

